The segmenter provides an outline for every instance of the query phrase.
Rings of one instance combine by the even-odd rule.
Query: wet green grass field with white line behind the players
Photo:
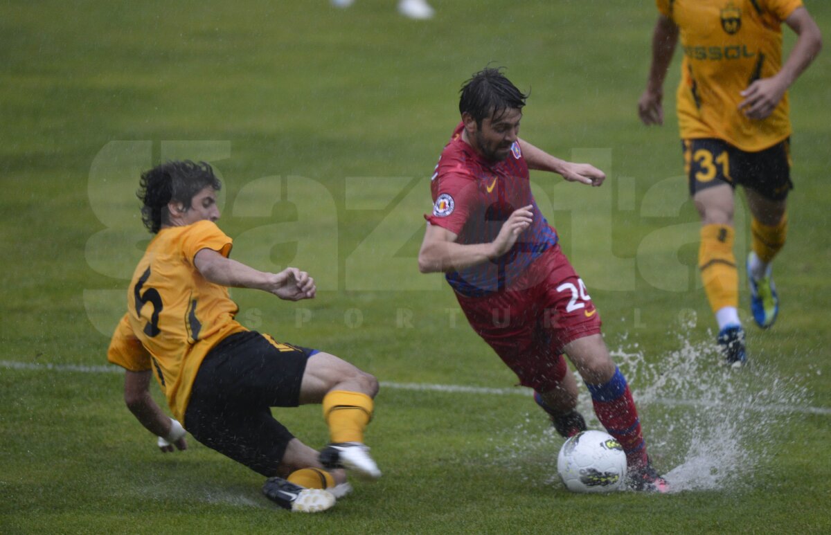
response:
[[[2,2],[0,533],[831,531],[831,53],[791,91],[782,312],[764,332],[748,316],[752,363],[730,373],[696,275],[677,56],[666,125],[637,120],[653,3],[432,3],[413,22],[392,0]],[[809,9],[828,39],[831,7]],[[524,138],[607,171],[601,189],[532,179],[681,492],[568,493],[562,439],[441,277],[418,273],[457,91],[489,62],[532,91]],[[381,380],[367,442],[384,478],[329,513],[284,513],[193,439],[159,454],[123,404],[106,346],[149,237],[134,192],[170,158],[218,169],[235,258],[317,277],[311,302],[235,290],[243,323]],[[319,407],[275,412],[326,443]]]

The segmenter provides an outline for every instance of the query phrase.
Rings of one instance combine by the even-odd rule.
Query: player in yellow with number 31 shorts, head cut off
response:
[[[813,61],[822,37],[802,0],[656,0],[652,66],[638,113],[663,124],[666,70],[680,37],[684,59],[676,93],[690,194],[701,214],[698,254],[705,292],[719,325],[725,361],[746,361],[733,253],[734,190],[752,215],[747,258],[751,308],[767,328],[779,312],[771,261],[785,242],[790,180],[787,90]],[[782,62],[782,22],[797,35]]]

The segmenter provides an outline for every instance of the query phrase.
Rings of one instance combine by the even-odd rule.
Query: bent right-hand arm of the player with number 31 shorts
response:
[[[794,9],[784,22],[799,37],[779,72],[770,78],[756,80],[747,86],[745,91],[741,91],[741,96],[744,96],[745,100],[739,103],[739,109],[750,119],[765,119],[773,113],[784,92],[788,91],[791,84],[808,68],[823,47],[822,33],[804,7]]]

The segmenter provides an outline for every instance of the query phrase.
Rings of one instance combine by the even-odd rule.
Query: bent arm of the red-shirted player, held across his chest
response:
[[[491,243],[455,243],[459,236],[438,225],[427,224],[418,253],[422,273],[450,272],[499,258],[514,247],[519,234],[531,224],[531,205],[514,210]]]

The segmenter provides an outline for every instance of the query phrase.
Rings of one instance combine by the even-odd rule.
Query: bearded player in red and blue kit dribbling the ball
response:
[[[593,186],[606,176],[521,140],[526,98],[498,69],[479,71],[462,87],[461,123],[430,181],[434,204],[425,216],[420,271],[445,272],[470,325],[534,389],[563,436],[585,429],[567,355],[597,419],[626,451],[630,487],[664,492],[627,380],[609,356],[583,280],[534,201],[529,169]]]

